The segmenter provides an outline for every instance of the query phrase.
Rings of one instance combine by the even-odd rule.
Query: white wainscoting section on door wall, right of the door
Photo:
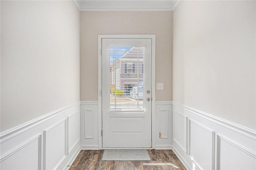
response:
[[[172,102],[156,101],[152,125],[155,125],[155,149],[172,149]],[[153,128],[152,128],[153,129]]]

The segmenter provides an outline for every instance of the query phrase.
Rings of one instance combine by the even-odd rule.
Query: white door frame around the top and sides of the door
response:
[[[151,142],[152,148],[156,147],[156,123],[155,123],[155,61],[156,61],[156,35],[98,35],[98,146],[102,149],[102,38],[126,38],[126,39],[152,39],[152,59],[151,59],[151,88],[152,88],[152,106],[151,106]],[[113,149],[113,148],[112,148]],[[133,148],[135,149],[135,148]]]

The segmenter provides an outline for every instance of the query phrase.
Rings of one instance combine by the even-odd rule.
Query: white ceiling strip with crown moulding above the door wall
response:
[[[172,11],[180,0],[74,0],[80,11]]]

